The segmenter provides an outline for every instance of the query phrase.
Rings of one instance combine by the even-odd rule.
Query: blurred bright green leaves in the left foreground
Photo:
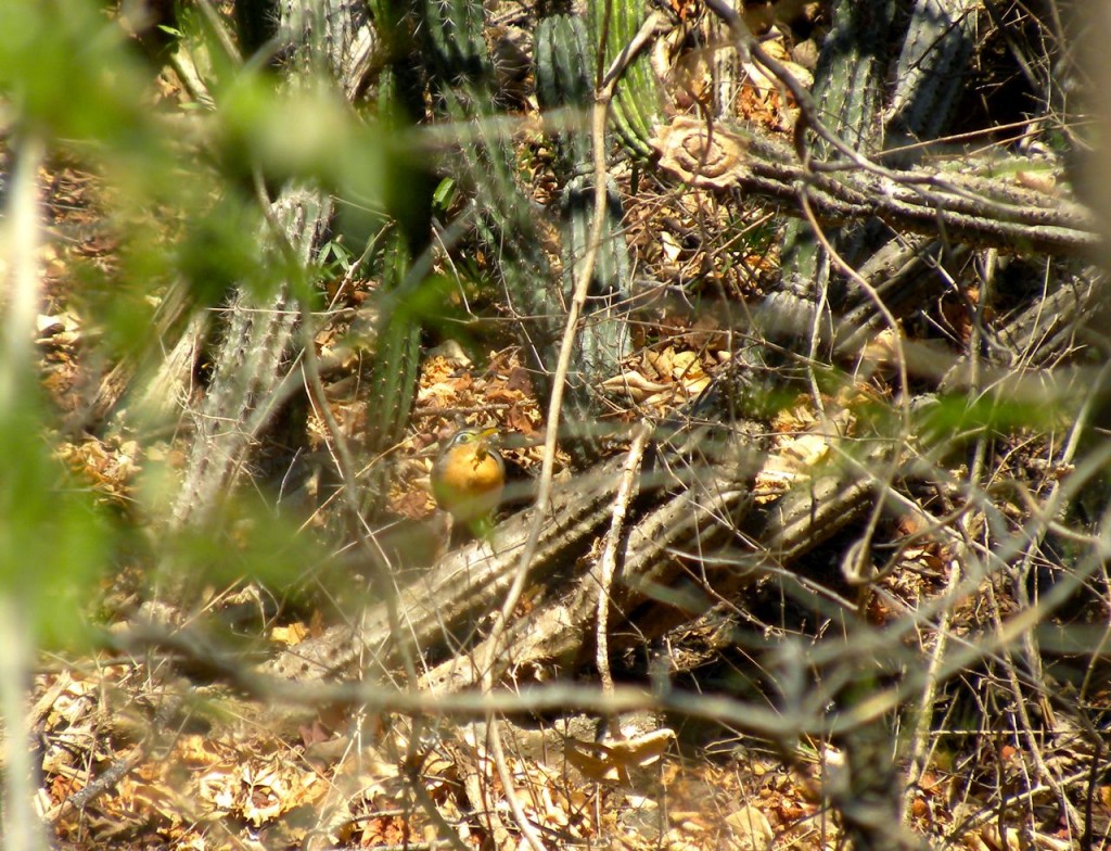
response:
[[[286,86],[269,71],[241,68],[202,16],[183,8],[178,20],[178,29],[163,32],[180,42],[176,48],[188,47],[214,108],[159,100],[158,69],[102,3],[0,3],[6,162],[36,140],[51,172],[96,174],[97,197],[88,200],[97,209],[88,218],[112,244],[107,263],[68,258],[62,298],[80,316],[82,368],[131,358],[136,373],[152,373],[173,344],[169,324],[180,328],[183,318],[221,307],[233,289],[264,296],[292,284],[311,306],[321,270],[263,249],[280,246],[266,219],[269,201],[289,182],[320,186],[351,201],[350,233],[377,233],[391,174],[420,159],[411,138],[368,123],[330,81]],[[7,204],[10,176],[0,184],[9,190],[0,197]],[[0,227],[8,213],[0,212]],[[321,261],[349,266],[361,253],[358,241],[333,238]],[[419,327],[419,313],[441,312],[442,292],[442,282],[428,289],[417,282],[396,313]],[[34,331],[19,333],[30,339]],[[73,645],[89,638],[84,618],[100,582],[120,567],[128,540],[151,520],[164,522],[177,483],[166,477],[159,487],[158,465],[148,462],[133,510],[113,520],[103,497],[56,458],[60,423],[38,388],[41,352],[13,359],[11,351],[0,349],[0,383],[8,388],[0,399],[0,593],[27,613],[38,645]],[[94,387],[99,377],[89,378]],[[299,525],[286,511],[279,517],[230,501],[217,528],[159,540],[156,559],[187,565],[196,581],[247,574],[281,587],[321,559]]]

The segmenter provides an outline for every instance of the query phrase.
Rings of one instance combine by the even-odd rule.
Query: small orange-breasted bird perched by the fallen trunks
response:
[[[489,538],[506,485],[506,461],[490,445],[497,428],[463,428],[443,444],[432,464],[432,495],[456,523]]]

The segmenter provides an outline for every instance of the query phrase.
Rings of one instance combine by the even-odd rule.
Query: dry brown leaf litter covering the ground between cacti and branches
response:
[[[168,72],[161,81],[159,108],[186,98]],[[537,118],[530,109],[534,104],[526,102],[522,124]],[[739,104],[741,118],[784,139],[790,111],[773,87],[748,88]],[[523,133],[518,143],[542,201],[551,182],[542,137]],[[610,388],[625,393],[625,407],[614,411],[613,422],[630,424],[644,412],[665,418],[682,410],[728,363],[734,329],[722,323],[722,312],[745,312],[774,280],[781,221],[737,196],[671,192],[643,176],[633,192],[630,173],[615,177],[635,264],[644,277],[669,284],[641,306],[637,354]],[[82,286],[90,269],[109,280],[117,273],[120,226],[106,213],[107,190],[96,173],[59,158],[40,182],[50,239],[41,254],[46,300],[37,343],[42,386],[61,423],[51,435],[56,454],[140,537],[157,538],[161,520],[136,514],[141,502],[137,489],[149,464],[180,469],[190,437],[139,435],[129,431],[126,419],[69,429],[111,374],[113,364],[98,358],[100,329]],[[438,258],[437,271],[449,276],[451,262],[448,256]],[[478,274],[471,280],[480,280],[482,258],[474,262]],[[357,279],[341,283],[340,278],[326,283],[334,318],[321,324],[316,346],[332,364],[327,374],[331,413],[358,443],[374,412],[360,393],[363,353],[350,340],[366,321],[361,311],[376,284]],[[688,286],[695,280],[698,292]],[[905,328],[908,338],[960,351],[983,319],[978,294],[975,286],[962,284],[922,306],[918,324]],[[1028,290],[1014,298],[1014,306],[1021,301],[1027,308],[1038,298]],[[541,458],[542,407],[522,353],[504,330],[510,308],[496,292],[466,286],[450,300],[452,311],[470,318],[470,344],[464,350],[448,339],[426,341],[411,427],[392,451],[387,485],[391,522],[416,524],[418,534],[440,534],[428,477],[436,447],[459,424],[496,426],[514,435],[506,454],[526,479],[536,475]],[[882,339],[875,344],[877,351],[889,346]],[[198,368],[199,384],[203,369]],[[892,384],[891,376],[878,371],[844,392],[888,400]],[[769,424],[770,437],[779,441],[775,451],[825,451],[792,442],[818,418],[805,394],[784,404]],[[283,432],[270,439],[276,445],[292,440],[309,453],[327,455],[329,432],[319,414],[304,416],[300,424],[302,431],[292,438]],[[1051,442],[1047,433],[1029,430],[1000,440],[992,458],[1000,471],[1025,464],[1028,473],[1040,471],[1039,487],[1051,484],[1054,475],[1067,472],[1037,463]],[[621,448],[615,441],[614,451]],[[262,447],[260,455],[267,451]],[[565,470],[568,463],[561,455],[558,468]],[[319,480],[282,495],[290,505],[287,522],[300,524],[302,534],[322,549],[342,547],[340,512]],[[939,509],[934,513],[942,515]],[[875,580],[879,590],[859,607],[872,625],[894,622],[903,611],[899,605],[927,607],[942,599],[960,569],[950,545],[918,535],[914,523],[907,512],[883,528],[885,543],[902,549],[897,568]],[[915,535],[920,544],[911,543]],[[221,545],[233,548],[234,533]],[[842,581],[833,552],[812,557],[812,579],[838,594],[854,593]],[[103,578],[101,594],[89,601],[87,617],[106,635],[123,630],[149,591],[154,553],[149,540],[122,552],[118,571]],[[319,635],[349,611],[346,595],[358,595],[348,594],[344,585],[367,580],[346,575],[339,563],[319,570],[301,565],[293,591],[246,575],[213,580],[201,590],[199,609],[214,613],[230,631],[260,639],[262,649],[256,653],[276,654]],[[1105,583],[1093,587],[1094,593],[1081,594],[1047,623],[1098,632],[1111,621],[1111,611]],[[747,593],[737,602],[769,634],[817,641],[825,630],[840,629],[833,617],[801,625],[805,618],[769,614],[790,608],[771,587]],[[975,637],[993,618],[1020,605],[1013,587],[989,577],[949,607],[945,629],[957,639]],[[528,615],[527,607],[520,614]],[[937,632],[923,628],[920,634],[893,640],[912,648],[912,658],[925,665]],[[691,672],[685,687],[711,697],[743,692],[773,705],[770,693],[761,694],[761,678],[771,674],[759,661],[745,667],[745,653],[737,648],[732,655],[715,657]],[[58,847],[528,848],[519,829],[521,812],[543,848],[833,849],[844,840],[841,813],[830,805],[830,789],[842,782],[844,755],[831,740],[771,742],[728,723],[678,714],[654,718],[644,729],[613,739],[601,737],[597,719],[542,713],[507,725],[517,740],[507,743],[506,759],[496,759],[484,724],[473,719],[402,720],[357,703],[286,714],[242,693],[219,672],[196,670],[197,661],[182,664],[164,648],[131,652],[110,640],[40,660],[28,715],[41,779],[37,805]],[[243,659],[242,664],[253,661]],[[939,721],[928,735],[915,782],[903,795],[909,833],[934,847],[1065,849],[1075,835],[1071,810],[1091,827],[1091,835],[1102,837],[1093,847],[1111,847],[1105,653],[1061,652],[1047,660],[1047,671],[1023,670],[1023,678],[1037,682],[1023,682],[1021,689],[997,682],[995,677],[1005,679],[1014,668],[992,661],[999,667],[970,667],[934,697]],[[630,664],[629,675],[633,670]],[[547,675],[521,673],[538,682]],[[591,682],[593,674],[578,674],[577,683]],[[1047,685],[1051,682],[1055,685]],[[1047,697],[1045,691],[1055,693]],[[1042,698],[1034,697],[1039,693]],[[1102,727],[1097,722],[1084,729],[1062,711],[1062,701],[1078,694],[1083,702],[1078,715],[1104,719]],[[1023,701],[1029,702],[1018,705]],[[993,714],[1025,720],[1009,728],[994,723]],[[910,714],[904,722],[911,722]],[[909,733],[898,731],[892,742],[900,734]],[[509,791],[500,773],[506,767]]]

